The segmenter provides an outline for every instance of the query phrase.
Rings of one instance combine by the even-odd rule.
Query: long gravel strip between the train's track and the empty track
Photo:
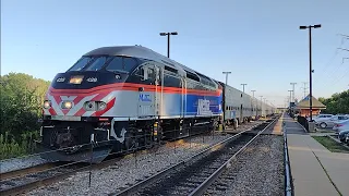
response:
[[[239,128],[244,130],[260,123],[252,122]],[[195,136],[190,139],[191,143],[189,139],[169,143],[149,151],[140,151],[136,158],[130,155],[113,166],[93,171],[91,187],[86,171],[52,185],[33,189],[27,195],[107,195],[119,192],[230,136],[215,133],[204,139],[203,136]]]

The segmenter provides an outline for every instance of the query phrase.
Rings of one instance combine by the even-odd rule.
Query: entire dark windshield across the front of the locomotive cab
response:
[[[68,72],[100,71],[105,69],[110,72],[120,71],[129,73],[143,62],[142,60],[139,61],[136,58],[129,57],[82,57]]]

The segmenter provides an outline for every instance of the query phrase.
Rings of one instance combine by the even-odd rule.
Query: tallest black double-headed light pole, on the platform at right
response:
[[[310,91],[310,98],[309,98],[309,110],[310,110],[310,121],[313,121],[313,93],[312,93],[312,28],[320,28],[321,24],[317,25],[309,25],[309,26],[300,26],[300,29],[306,29],[309,28],[309,78],[310,78],[310,85],[309,85],[309,91]]]

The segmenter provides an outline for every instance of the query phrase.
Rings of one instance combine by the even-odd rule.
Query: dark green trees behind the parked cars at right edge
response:
[[[327,99],[320,97],[318,101],[326,106],[326,110],[323,110],[324,113],[349,113],[349,90],[340,94],[334,94]]]

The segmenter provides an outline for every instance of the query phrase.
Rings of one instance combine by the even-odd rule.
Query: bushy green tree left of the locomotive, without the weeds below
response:
[[[15,140],[24,132],[37,131],[43,100],[50,82],[24,73],[9,73],[0,77],[1,134]]]

